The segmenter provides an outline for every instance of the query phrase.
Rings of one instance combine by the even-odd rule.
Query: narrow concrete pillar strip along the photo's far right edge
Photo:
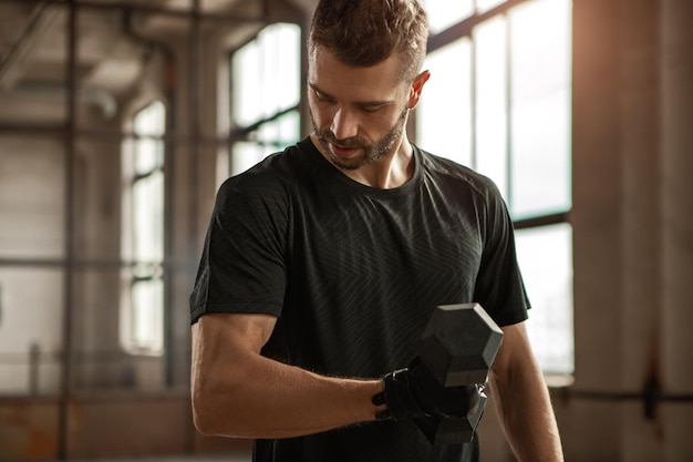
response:
[[[662,337],[666,393],[693,396],[693,2],[661,2]],[[666,460],[693,459],[693,402],[664,405]]]

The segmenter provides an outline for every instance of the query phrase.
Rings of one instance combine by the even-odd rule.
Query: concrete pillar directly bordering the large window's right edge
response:
[[[619,460],[619,403],[583,393],[611,394],[621,388],[621,16],[619,1],[573,2],[576,370],[575,393],[565,411],[558,410],[568,460]]]

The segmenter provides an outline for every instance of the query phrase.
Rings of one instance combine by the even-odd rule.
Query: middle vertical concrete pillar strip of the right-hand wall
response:
[[[658,0],[622,2],[620,106],[623,306],[621,392],[661,383],[661,152]],[[661,460],[661,421],[642,399],[620,405],[624,461]]]

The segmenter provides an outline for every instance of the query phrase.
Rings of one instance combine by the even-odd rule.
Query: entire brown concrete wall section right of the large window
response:
[[[570,460],[693,458],[692,21],[690,0],[573,2]]]

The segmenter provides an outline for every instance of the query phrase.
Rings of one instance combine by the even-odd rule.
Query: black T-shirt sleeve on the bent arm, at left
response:
[[[189,299],[193,322],[211,312],[280,316],[288,201],[262,178],[247,182],[230,178],[217,194]]]

